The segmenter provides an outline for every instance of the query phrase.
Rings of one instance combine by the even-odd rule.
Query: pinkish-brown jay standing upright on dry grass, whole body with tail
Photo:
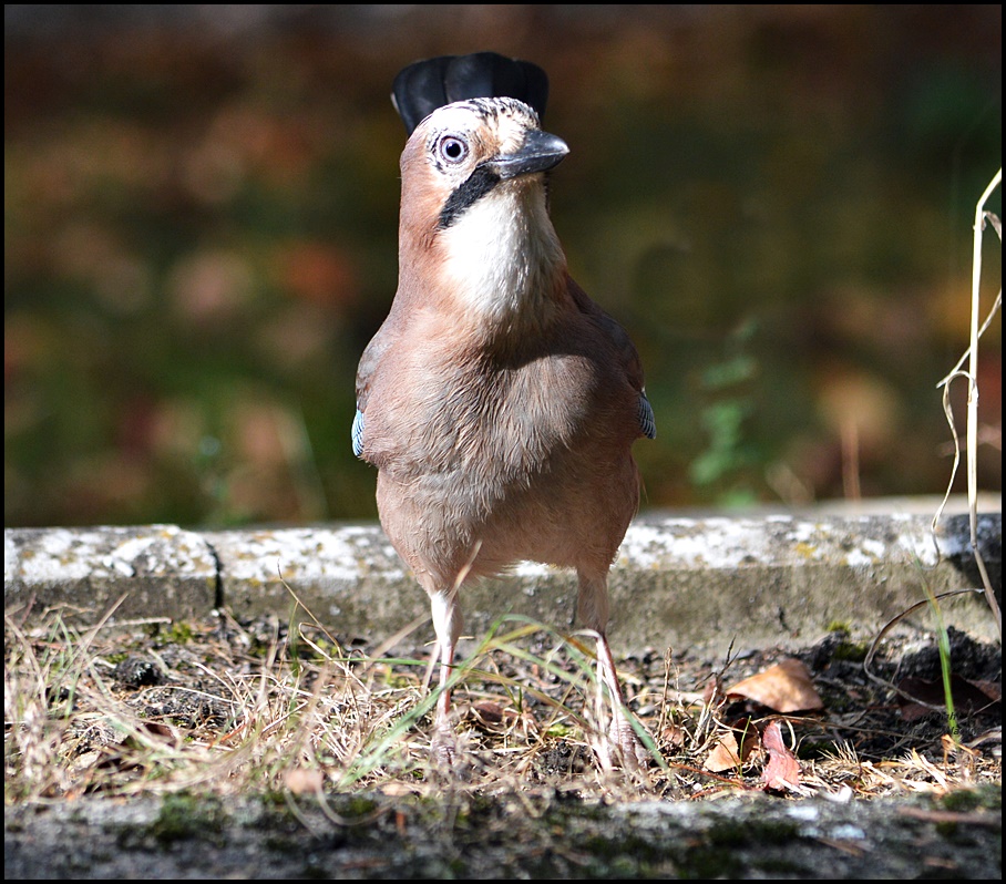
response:
[[[356,379],[352,446],[377,467],[381,525],[430,598],[440,657],[434,747],[461,595],[522,561],[573,568],[610,721],[603,768],[645,761],[608,644],[607,577],[636,514],[632,448],[656,435],[639,354],[569,276],[548,210],[569,152],[542,127],[548,78],[495,52],[394,78],[406,124],[399,279]]]

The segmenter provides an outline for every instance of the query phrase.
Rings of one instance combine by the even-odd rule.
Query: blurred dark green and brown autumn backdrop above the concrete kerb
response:
[[[349,429],[397,280],[390,84],[483,49],[550,73],[572,148],[555,225],[657,414],[646,506],[944,490],[936,383],[967,346],[974,204],[1002,162],[1000,6],[4,18],[7,525],[374,516]]]

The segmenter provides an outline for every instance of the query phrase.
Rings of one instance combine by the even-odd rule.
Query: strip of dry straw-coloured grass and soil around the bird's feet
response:
[[[793,796],[942,793],[1002,777],[997,741],[985,733],[995,722],[965,713],[959,743],[942,740],[938,712],[906,723],[891,693],[877,692],[849,659],[862,659],[862,645],[841,634],[802,655],[825,702],[815,715],[728,701],[723,661],[656,650],[620,661],[655,760],[637,774],[605,775],[589,749],[592,643],[540,624],[501,620],[459,665],[460,748],[446,770],[431,761],[435,692],[424,688],[421,646],[399,657],[388,647],[368,652],[315,624],[237,623],[225,614],[204,624],[106,621],[81,630],[72,619],[65,611],[4,617],[8,804],[192,790],[311,793],[322,804],[331,792],[373,790],[712,799],[764,788],[763,752],[732,770],[704,764],[726,734],[743,742],[769,720],[784,722],[800,759]],[[408,648],[415,639],[396,641]],[[733,660],[729,677],[778,656]],[[903,668],[906,659],[903,646],[890,644],[874,666]]]

